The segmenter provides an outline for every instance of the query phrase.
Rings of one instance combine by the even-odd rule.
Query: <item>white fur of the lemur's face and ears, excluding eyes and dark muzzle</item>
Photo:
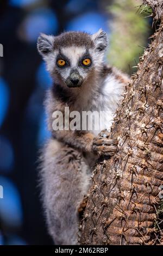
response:
[[[41,50],[39,48],[39,52],[42,54],[43,59],[46,61],[47,64],[47,70],[50,72],[52,77],[54,78],[54,81],[56,83],[59,83],[63,86],[66,86],[66,80],[68,77],[70,77],[70,74],[73,70],[76,70],[82,79],[82,83],[89,78],[92,72],[98,72],[101,71],[102,65],[103,65],[103,59],[104,59],[104,52],[105,48],[108,44],[107,42],[107,36],[102,31],[99,30],[96,34],[89,35],[90,39],[94,42],[93,47],[87,48],[86,46],[64,46],[60,47],[59,50],[54,48],[48,53],[41,52],[43,45],[45,45],[46,49],[51,48],[53,45],[53,41],[55,40],[55,36],[47,36],[42,35],[41,40],[38,41],[38,48],[39,45],[41,45]],[[47,40],[48,42],[44,42],[44,40]],[[43,49],[44,50],[44,49]],[[57,58],[59,54],[63,54],[69,61],[69,65],[66,65],[65,67],[60,68],[57,65]],[[88,55],[91,59],[91,66],[88,68],[85,68],[84,66],[80,65],[82,57]]]

